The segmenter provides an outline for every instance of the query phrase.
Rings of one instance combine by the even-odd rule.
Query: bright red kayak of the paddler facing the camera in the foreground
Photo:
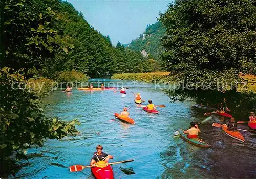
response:
[[[96,165],[99,163],[101,164],[101,163],[106,163],[106,162],[99,161],[96,163]],[[112,170],[111,166],[108,164],[102,165],[102,167],[91,167],[91,171],[92,171],[93,176],[96,179],[113,179],[114,178],[113,170]]]

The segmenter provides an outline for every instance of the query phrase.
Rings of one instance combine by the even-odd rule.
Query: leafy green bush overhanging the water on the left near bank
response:
[[[77,120],[45,117],[37,91],[30,91],[26,84],[23,71],[10,74],[9,69],[0,70],[0,176],[5,178],[17,171],[11,156],[27,159],[26,150],[32,145],[41,147],[46,138],[62,139],[77,133]]]

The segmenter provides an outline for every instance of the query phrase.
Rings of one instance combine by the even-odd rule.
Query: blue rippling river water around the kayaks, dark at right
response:
[[[103,80],[101,80],[103,81]],[[117,80],[112,81],[115,85]],[[190,121],[205,119],[201,109],[191,107],[194,100],[170,103],[164,92],[154,84],[121,81],[127,94],[113,90],[72,93],[55,91],[44,103],[47,116],[62,120],[79,119],[81,134],[62,140],[47,140],[42,148],[28,150],[29,162],[18,178],[93,178],[90,169],[70,172],[75,164],[89,165],[102,145],[103,151],[114,156],[110,162],[134,159],[133,162],[112,165],[115,178],[256,178],[256,134],[241,132],[245,142],[234,140],[212,127],[212,122],[223,122],[214,116],[200,125],[201,137],[211,145],[204,149],[173,137],[179,128],[187,129]],[[161,85],[160,85],[161,86]],[[163,85],[162,85],[163,87]],[[166,105],[160,114],[150,114],[134,103],[133,93],[140,92],[144,100]],[[146,104],[146,103],[144,103]],[[113,119],[123,107],[129,109],[135,125]],[[247,125],[239,124],[241,129]]]

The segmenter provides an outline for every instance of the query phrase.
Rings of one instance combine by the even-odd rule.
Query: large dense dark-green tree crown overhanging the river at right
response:
[[[179,80],[238,80],[255,74],[256,7],[250,0],[189,0],[170,4],[160,21],[166,28],[165,69]]]

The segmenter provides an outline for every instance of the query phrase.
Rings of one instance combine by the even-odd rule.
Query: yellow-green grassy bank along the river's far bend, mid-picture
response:
[[[111,79],[120,80],[137,80],[143,82],[159,82],[168,83],[169,72],[154,72],[154,73],[122,73],[114,74]]]

